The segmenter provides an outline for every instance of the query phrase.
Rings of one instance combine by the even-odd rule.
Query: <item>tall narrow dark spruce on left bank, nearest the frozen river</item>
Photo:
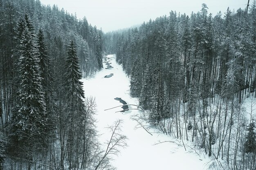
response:
[[[65,64],[66,73],[64,75],[65,87],[65,102],[66,109],[66,124],[67,124],[67,156],[69,161],[69,169],[72,169],[73,147],[75,145],[74,138],[76,137],[76,128],[78,127],[75,119],[80,117],[84,111],[84,97],[83,82],[80,81],[82,74],[79,71],[79,60],[76,54],[74,41],[72,40],[67,52],[67,59]],[[63,166],[63,165],[62,165]],[[63,168],[63,167],[62,167]]]

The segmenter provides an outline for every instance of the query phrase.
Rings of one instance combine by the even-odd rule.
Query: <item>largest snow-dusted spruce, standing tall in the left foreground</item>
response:
[[[10,135],[16,151],[31,159],[32,150],[44,144],[47,124],[44,93],[41,85],[38,49],[27,26],[19,44],[18,100],[13,110]]]

